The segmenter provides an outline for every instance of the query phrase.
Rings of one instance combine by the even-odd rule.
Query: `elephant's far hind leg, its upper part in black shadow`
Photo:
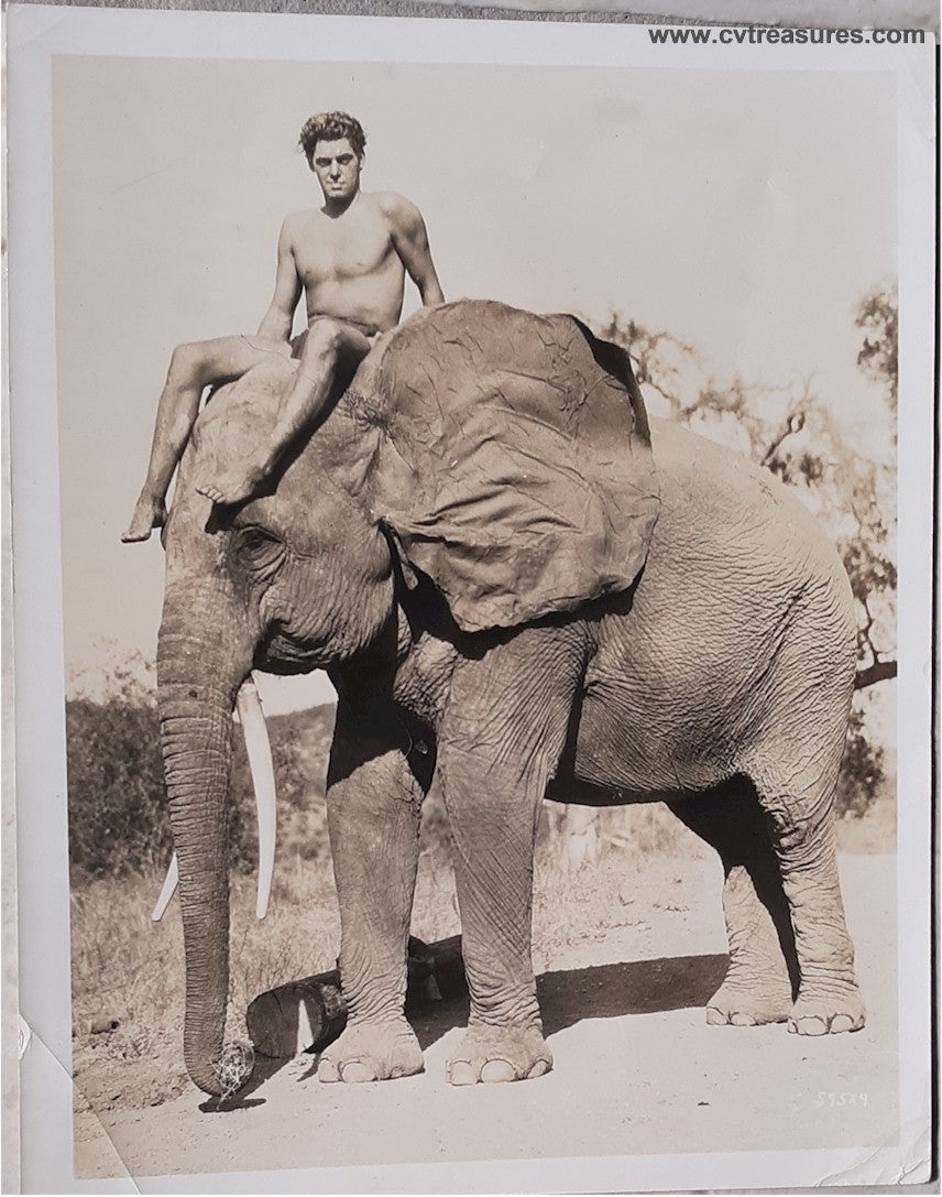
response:
[[[797,992],[798,966],[782,874],[768,824],[747,778],[715,794],[669,803],[723,862],[723,917],[729,970],[706,1005],[715,1026],[784,1022]]]

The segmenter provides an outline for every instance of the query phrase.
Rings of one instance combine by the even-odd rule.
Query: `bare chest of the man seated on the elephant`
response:
[[[316,213],[294,242],[294,262],[305,286],[376,274],[394,256],[389,226],[378,214],[330,220]]]

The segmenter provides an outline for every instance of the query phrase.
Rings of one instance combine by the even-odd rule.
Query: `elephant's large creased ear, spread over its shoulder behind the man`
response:
[[[421,312],[346,401],[378,432],[375,516],[466,631],[633,583],[658,510],[648,418],[627,354],[572,316],[472,300]]]

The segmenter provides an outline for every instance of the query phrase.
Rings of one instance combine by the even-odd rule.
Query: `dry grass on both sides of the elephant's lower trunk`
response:
[[[77,1089],[95,1108],[156,1105],[187,1084],[176,903],[151,922],[162,880],[96,881],[73,895],[73,1065]],[[334,965],[340,919],[329,865],[282,862],[263,922],[255,917],[255,879],[233,874],[231,911],[227,1038],[244,1040],[256,995]],[[93,1034],[97,1020],[118,1027]]]

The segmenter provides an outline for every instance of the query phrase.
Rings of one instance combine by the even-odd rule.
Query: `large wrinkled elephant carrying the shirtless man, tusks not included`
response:
[[[213,506],[194,478],[267,435],[296,367],[278,358],[211,397],[165,529],[158,706],[195,1084],[221,1093],[231,1063],[227,778],[253,669],[326,669],[338,692],[327,812],[350,1016],[322,1081],[423,1068],[403,997],[433,780],[470,995],[451,1083],[552,1067],[530,954],[543,797],[664,801],[718,851],[730,965],[707,1022],[863,1026],[834,838],[853,606],[806,508],[649,421],[627,354],[573,317],[481,300],[385,334],[268,485]]]

